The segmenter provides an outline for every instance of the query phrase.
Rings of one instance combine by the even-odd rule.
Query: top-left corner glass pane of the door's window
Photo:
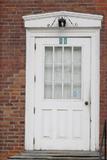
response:
[[[52,64],[53,47],[45,47],[45,64]]]

